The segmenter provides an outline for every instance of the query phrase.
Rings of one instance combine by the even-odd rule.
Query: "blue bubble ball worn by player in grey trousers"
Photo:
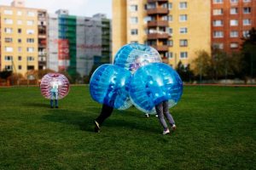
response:
[[[155,113],[155,105],[168,100],[169,108],[177,105],[183,94],[183,82],[170,65],[152,63],[139,68],[129,86],[133,105],[148,114]]]

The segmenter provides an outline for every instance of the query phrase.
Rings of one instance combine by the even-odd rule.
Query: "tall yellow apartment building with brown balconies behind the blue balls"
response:
[[[211,51],[211,2],[113,0],[113,54],[126,43],[156,48],[164,62],[189,65],[196,52]]]

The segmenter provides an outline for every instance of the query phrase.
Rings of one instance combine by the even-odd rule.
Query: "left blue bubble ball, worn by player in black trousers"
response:
[[[129,81],[131,72],[116,65],[101,65],[90,78],[90,96],[97,102],[115,109],[129,108]]]

